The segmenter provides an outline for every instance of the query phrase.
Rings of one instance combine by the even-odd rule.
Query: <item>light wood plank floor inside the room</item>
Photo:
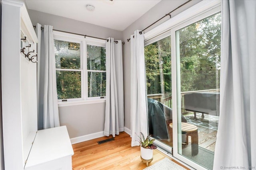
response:
[[[146,168],[146,163],[143,163],[140,159],[140,147],[131,147],[130,135],[122,132],[120,135],[116,135],[114,141],[100,145],[97,143],[97,141],[108,138],[112,138],[112,136],[72,145],[74,150],[74,155],[72,156],[73,170],[142,170]],[[155,149],[154,159],[148,166],[164,157],[167,156]],[[170,160],[172,159],[170,158]],[[172,161],[176,162],[175,160]],[[179,165],[182,166],[181,164]]]

